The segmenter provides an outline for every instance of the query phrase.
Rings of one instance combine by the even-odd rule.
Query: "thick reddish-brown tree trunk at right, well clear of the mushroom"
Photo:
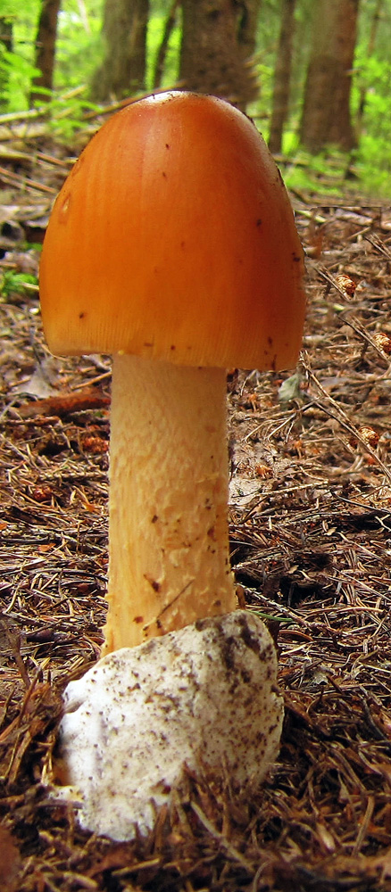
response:
[[[349,151],[356,145],[350,91],[359,0],[318,0],[312,54],[304,89],[302,145],[312,153],[328,144]]]

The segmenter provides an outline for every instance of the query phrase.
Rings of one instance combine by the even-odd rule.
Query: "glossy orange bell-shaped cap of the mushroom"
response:
[[[254,124],[173,92],[113,115],[54,204],[40,267],[57,354],[289,368],[304,322],[303,251]]]

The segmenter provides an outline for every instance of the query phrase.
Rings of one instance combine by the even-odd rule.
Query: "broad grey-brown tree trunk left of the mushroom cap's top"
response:
[[[149,0],[105,0],[103,65],[91,92],[98,102],[146,89],[146,31]]]

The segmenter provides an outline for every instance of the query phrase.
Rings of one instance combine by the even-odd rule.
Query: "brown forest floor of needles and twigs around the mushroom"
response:
[[[115,844],[79,830],[42,782],[62,689],[102,642],[110,364],[51,357],[34,283],[15,290],[15,274],[37,274],[30,244],[69,165],[53,145],[12,152],[0,168],[1,888],[391,890],[391,213],[357,195],[292,196],[307,252],[302,360],[295,375],[229,374],[232,564],[279,649],[277,763],[261,793],[189,778],[187,802],[149,838]]]

